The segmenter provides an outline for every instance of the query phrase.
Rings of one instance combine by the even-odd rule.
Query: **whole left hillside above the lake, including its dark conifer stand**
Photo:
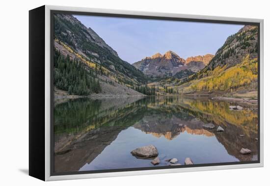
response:
[[[140,90],[137,87],[147,83],[141,71],[121,60],[96,32],[72,15],[54,15],[54,47],[61,59],[54,59],[54,64],[68,63],[64,67],[55,66],[55,87],[60,90],[78,95],[140,95],[135,89]],[[71,68],[75,69],[72,74]],[[77,79],[75,74],[79,75]],[[86,87],[81,88],[83,85]]]

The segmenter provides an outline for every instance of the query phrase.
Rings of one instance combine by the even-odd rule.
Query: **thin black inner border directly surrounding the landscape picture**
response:
[[[234,25],[253,25],[258,27],[258,160],[257,161],[240,161],[240,162],[224,162],[224,163],[205,163],[194,165],[179,165],[179,166],[159,166],[159,167],[140,167],[140,168],[124,168],[124,169],[104,169],[92,171],[75,171],[75,172],[54,172],[54,14],[71,14],[71,15],[87,15],[101,17],[116,17],[116,18],[133,18],[133,19],[150,19],[150,20],[167,20],[167,21],[184,21],[197,23],[217,23],[217,24],[234,24]],[[199,17],[199,15],[198,15]],[[221,18],[222,19],[222,18]],[[51,81],[51,109],[50,109],[50,176],[62,175],[78,175],[78,174],[95,174],[95,173],[110,173],[110,172],[126,172],[126,171],[144,171],[144,170],[162,170],[174,168],[188,167],[207,167],[220,165],[240,165],[260,163],[261,143],[260,143],[260,23],[245,22],[245,21],[224,21],[210,19],[194,19],[194,18],[177,18],[177,17],[162,17],[162,16],[146,16],[146,15],[130,15],[130,14],[114,14],[114,13],[97,13],[97,12],[80,12],[80,11],[65,11],[65,10],[50,10],[50,81]]]

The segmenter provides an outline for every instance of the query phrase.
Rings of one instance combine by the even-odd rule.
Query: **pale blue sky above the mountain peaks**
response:
[[[181,58],[215,54],[243,25],[74,15],[129,63],[173,51]]]

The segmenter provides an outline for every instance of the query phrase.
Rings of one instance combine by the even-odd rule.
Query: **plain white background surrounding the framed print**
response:
[[[266,185],[269,183],[269,114],[265,96],[265,167],[44,183],[28,169],[28,10],[43,4],[156,11],[265,20],[265,95],[270,81],[268,0],[2,0],[0,5],[0,185],[170,186]]]

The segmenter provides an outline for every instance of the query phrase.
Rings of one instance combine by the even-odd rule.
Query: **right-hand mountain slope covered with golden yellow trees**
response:
[[[229,36],[208,65],[184,78],[177,89],[181,93],[257,91],[257,32],[255,26],[244,26]]]

